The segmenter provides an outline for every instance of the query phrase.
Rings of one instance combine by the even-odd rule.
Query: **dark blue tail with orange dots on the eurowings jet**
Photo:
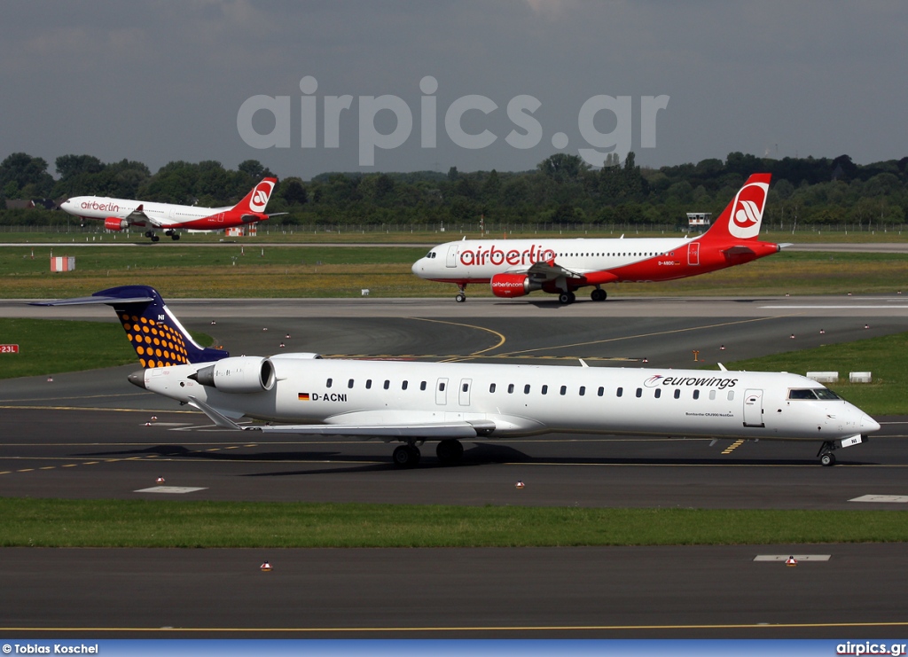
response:
[[[124,285],[102,289],[91,297],[37,302],[35,306],[78,306],[104,303],[113,306],[133,344],[143,368],[164,368],[186,363],[209,363],[227,358],[222,349],[204,348],[183,329],[179,319],[156,289],[146,285]]]

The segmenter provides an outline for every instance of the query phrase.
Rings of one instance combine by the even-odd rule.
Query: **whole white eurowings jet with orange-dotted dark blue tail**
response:
[[[398,441],[398,466],[416,465],[427,440],[439,441],[442,462],[455,462],[461,440],[553,432],[814,441],[831,466],[835,449],[880,428],[795,374],[231,357],[199,347],[149,287],[35,305],[86,303],[114,307],[143,366],[129,377],[136,386],[199,408],[219,427]],[[240,425],[242,417],[285,424]]]

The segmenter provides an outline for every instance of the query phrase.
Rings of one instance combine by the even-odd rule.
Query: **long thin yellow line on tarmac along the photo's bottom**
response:
[[[908,627],[908,621],[848,623],[703,623],[690,625],[452,625],[429,627],[0,627],[0,632],[278,632],[311,634],[316,632],[596,632],[639,630],[785,630],[796,628]]]

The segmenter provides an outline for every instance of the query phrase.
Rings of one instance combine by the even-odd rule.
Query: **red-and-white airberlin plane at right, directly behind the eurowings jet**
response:
[[[604,301],[606,283],[684,279],[724,270],[777,253],[786,244],[760,241],[769,173],[745,182],[709,230],[696,238],[615,240],[467,240],[441,244],[413,264],[422,279],[456,283],[455,299],[467,299],[468,283],[490,283],[496,297],[511,299],[534,289],[572,303],[575,291],[593,286]]]

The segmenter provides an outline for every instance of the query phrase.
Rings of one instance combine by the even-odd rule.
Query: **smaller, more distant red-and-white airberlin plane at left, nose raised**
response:
[[[151,201],[108,199],[98,196],[76,196],[60,207],[82,219],[100,219],[107,230],[123,230],[130,226],[147,228],[145,237],[157,241],[154,229],[161,229],[173,240],[180,239],[177,229],[223,230],[244,226],[286,212],[265,214],[265,206],[277,178],[265,178],[232,207],[198,208],[194,205],[172,205]]]

